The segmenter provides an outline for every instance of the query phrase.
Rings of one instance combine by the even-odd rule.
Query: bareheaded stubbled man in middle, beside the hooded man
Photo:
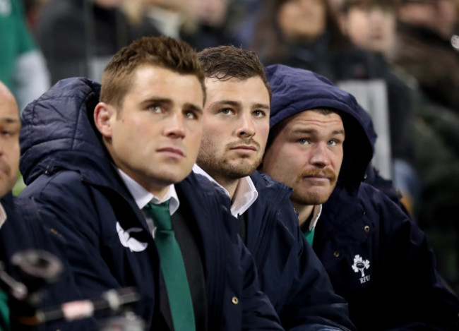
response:
[[[271,88],[254,52],[204,49],[207,100],[193,168],[231,200],[239,234],[254,255],[261,289],[286,330],[353,330],[347,303],[299,231],[290,188],[259,173],[269,131]],[[237,220],[234,219],[237,224]]]

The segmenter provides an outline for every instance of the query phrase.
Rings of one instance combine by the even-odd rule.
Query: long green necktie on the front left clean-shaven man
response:
[[[160,205],[148,203],[143,210],[153,219],[156,226],[155,244],[160,255],[174,330],[193,331],[196,329],[193,303],[186,279],[184,259],[172,229],[169,200]]]

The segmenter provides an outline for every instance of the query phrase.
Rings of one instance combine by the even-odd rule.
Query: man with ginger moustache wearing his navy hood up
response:
[[[323,76],[267,67],[273,88],[262,170],[293,188],[304,235],[358,330],[457,330],[458,298],[423,232],[363,183],[372,157],[356,100]]]

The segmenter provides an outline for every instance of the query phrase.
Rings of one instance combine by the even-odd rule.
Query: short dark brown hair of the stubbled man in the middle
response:
[[[271,100],[271,87],[266,78],[265,68],[255,52],[234,46],[219,46],[203,49],[198,53],[206,78],[245,80],[260,77]]]

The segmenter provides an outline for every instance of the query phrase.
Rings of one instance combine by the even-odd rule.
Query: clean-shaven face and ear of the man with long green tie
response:
[[[121,109],[100,102],[95,123],[117,167],[162,197],[196,162],[203,90],[198,78],[139,66]]]

